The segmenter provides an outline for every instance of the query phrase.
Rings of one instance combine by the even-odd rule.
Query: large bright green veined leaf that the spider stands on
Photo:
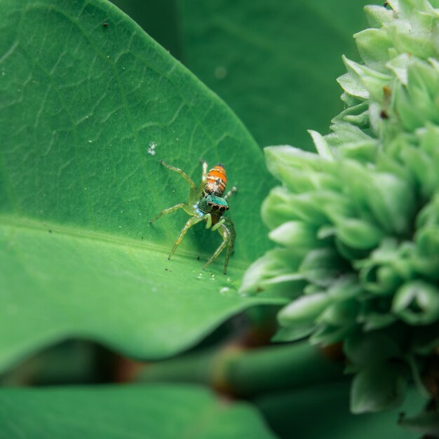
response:
[[[236,293],[269,245],[259,204],[271,180],[213,93],[103,0],[2,0],[0,33],[0,369],[75,336],[168,356],[278,302]],[[239,188],[228,276],[224,255],[201,271],[220,242],[201,224],[168,262],[184,212],[147,224],[187,201],[159,158],[198,183],[200,157]]]

